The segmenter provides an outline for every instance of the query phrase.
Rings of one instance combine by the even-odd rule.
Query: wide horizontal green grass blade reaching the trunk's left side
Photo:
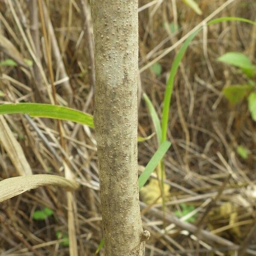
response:
[[[81,111],[63,106],[39,104],[39,103],[16,103],[0,105],[0,114],[29,114],[30,116],[69,120],[88,125],[93,128],[93,116]]]

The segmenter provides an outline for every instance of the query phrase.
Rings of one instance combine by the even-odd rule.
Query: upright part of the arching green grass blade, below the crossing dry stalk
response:
[[[195,36],[198,34],[200,29],[195,31],[189,38],[186,39],[182,47],[180,48],[179,52],[177,53],[172,68],[170,71],[170,75],[166,84],[166,90],[164,94],[164,102],[163,102],[163,116],[162,116],[162,142],[166,140],[166,134],[167,134],[167,125],[169,122],[169,105],[171,102],[172,97],[172,90],[173,90],[173,84],[174,84],[174,78],[177,73],[177,69],[180,65],[180,61],[182,60],[186,49],[188,48],[190,42],[195,38]]]

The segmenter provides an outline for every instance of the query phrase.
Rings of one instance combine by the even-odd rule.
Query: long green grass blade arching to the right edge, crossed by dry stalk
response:
[[[207,26],[220,23],[222,21],[241,21],[245,23],[250,23],[253,25],[256,25],[256,22],[252,20],[247,20],[244,18],[240,17],[221,17],[217,18],[214,20],[211,20],[207,23]],[[186,39],[182,47],[180,48],[179,52],[177,53],[173,64],[172,68],[170,70],[170,75],[168,78],[168,81],[166,83],[166,90],[165,90],[165,95],[164,95],[164,102],[163,102],[163,113],[162,113],[162,142],[166,140],[166,134],[167,134],[167,126],[169,122],[169,106],[171,102],[171,97],[172,97],[172,90],[173,90],[173,84],[174,84],[174,78],[177,73],[177,69],[180,65],[180,61],[182,60],[186,49],[188,48],[190,42],[195,38],[195,36],[202,30],[202,27],[195,31],[192,35],[189,36],[189,38]]]

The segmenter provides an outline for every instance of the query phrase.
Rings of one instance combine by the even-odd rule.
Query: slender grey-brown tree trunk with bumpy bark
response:
[[[137,176],[138,0],[92,0],[94,123],[107,256],[145,254]]]

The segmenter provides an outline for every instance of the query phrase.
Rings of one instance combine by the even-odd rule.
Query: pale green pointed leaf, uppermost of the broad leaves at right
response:
[[[253,65],[250,59],[241,52],[227,52],[220,56],[217,60],[235,67],[240,67],[241,69],[247,71],[256,71],[256,66]]]

